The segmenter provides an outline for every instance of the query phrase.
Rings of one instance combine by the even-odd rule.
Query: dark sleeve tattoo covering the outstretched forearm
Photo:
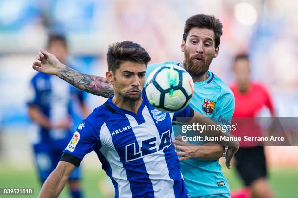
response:
[[[61,71],[59,78],[74,85],[76,88],[105,98],[114,94],[113,86],[106,78],[77,72],[70,67]]]

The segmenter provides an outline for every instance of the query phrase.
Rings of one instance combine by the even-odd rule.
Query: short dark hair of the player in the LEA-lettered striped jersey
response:
[[[107,52],[108,70],[113,73],[120,67],[124,61],[142,63],[147,66],[151,57],[148,52],[139,44],[131,41],[116,42],[109,46]]]

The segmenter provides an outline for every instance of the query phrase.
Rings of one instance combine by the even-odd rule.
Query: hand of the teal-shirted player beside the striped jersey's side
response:
[[[179,160],[187,160],[189,158],[197,158],[197,149],[198,146],[188,143],[187,141],[182,140],[182,136],[179,135],[175,138],[173,141],[174,148],[178,151],[176,151],[176,154],[178,156],[181,156]]]

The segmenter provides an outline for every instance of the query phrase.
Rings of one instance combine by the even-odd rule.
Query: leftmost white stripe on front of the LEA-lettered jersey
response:
[[[118,183],[119,195],[121,195],[121,198],[131,198],[130,182],[127,180],[126,170],[123,168],[123,164],[114,147],[112,136],[106,123],[101,126],[99,137],[101,144],[104,145],[99,150],[111,166],[112,177]]]

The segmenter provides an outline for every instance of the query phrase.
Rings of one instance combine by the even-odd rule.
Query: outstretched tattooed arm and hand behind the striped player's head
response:
[[[36,59],[32,65],[36,71],[56,75],[76,88],[94,95],[108,98],[114,93],[113,86],[106,78],[75,71],[45,50],[41,49]]]

